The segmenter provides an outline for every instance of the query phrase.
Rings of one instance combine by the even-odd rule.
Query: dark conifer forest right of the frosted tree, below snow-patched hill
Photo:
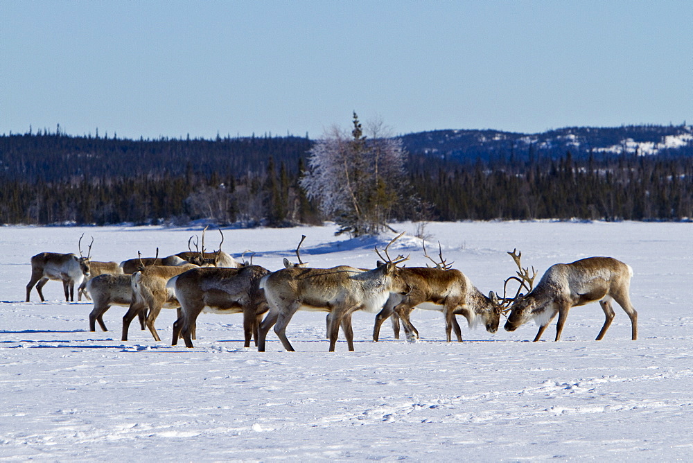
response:
[[[410,183],[436,220],[683,220],[693,217],[693,157],[590,155],[450,166],[431,159]]]

